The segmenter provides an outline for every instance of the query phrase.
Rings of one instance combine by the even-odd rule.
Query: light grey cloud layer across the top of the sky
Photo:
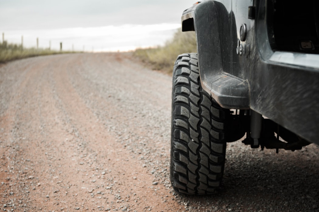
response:
[[[0,0],[0,29],[179,23],[191,0]]]

